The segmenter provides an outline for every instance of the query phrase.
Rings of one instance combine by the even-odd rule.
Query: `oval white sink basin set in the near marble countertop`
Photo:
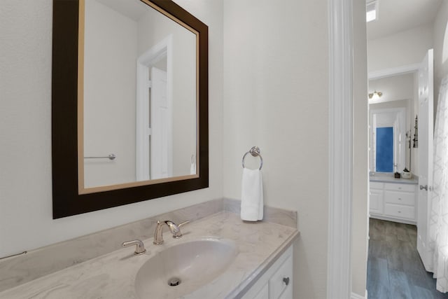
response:
[[[137,296],[168,299],[192,293],[223,273],[236,255],[237,246],[229,239],[204,238],[170,246],[137,272]]]

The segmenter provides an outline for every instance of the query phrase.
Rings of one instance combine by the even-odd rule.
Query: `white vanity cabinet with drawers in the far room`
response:
[[[416,223],[416,184],[370,182],[370,216]]]

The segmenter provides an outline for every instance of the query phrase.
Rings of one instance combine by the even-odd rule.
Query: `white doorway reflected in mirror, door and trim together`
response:
[[[137,181],[172,171],[172,36],[137,60]]]

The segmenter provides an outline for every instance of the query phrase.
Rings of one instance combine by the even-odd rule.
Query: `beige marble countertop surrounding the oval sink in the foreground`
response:
[[[162,245],[153,245],[152,238],[144,240],[144,255],[134,256],[134,246],[123,248],[9,288],[0,298],[138,298],[134,281],[141,265],[169,246],[202,237],[232,239],[237,243],[237,256],[221,276],[180,298],[239,298],[298,235],[296,228],[285,225],[243,222],[230,211],[193,221],[182,232],[181,239],[167,233]]]

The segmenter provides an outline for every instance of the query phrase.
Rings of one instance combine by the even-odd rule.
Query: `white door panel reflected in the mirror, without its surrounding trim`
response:
[[[172,107],[167,72],[151,68],[151,179],[173,175]]]

